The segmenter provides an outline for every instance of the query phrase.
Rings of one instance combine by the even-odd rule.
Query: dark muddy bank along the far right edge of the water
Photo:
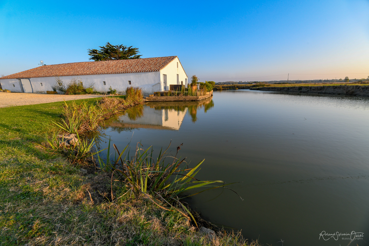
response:
[[[289,91],[306,93],[324,93],[369,97],[369,86],[289,86],[289,87],[255,87],[250,90]]]

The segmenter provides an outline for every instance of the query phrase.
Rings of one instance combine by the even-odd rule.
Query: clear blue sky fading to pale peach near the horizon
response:
[[[369,1],[1,1],[0,74],[106,42],[177,55],[200,81],[369,76]]]

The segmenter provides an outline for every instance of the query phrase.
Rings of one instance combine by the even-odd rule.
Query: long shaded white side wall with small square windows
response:
[[[118,93],[124,94],[125,89],[129,86],[128,80],[131,81],[130,86],[141,87],[142,93],[144,94],[152,94],[154,91],[160,90],[159,71],[59,77],[64,80],[65,83],[68,83],[73,77],[79,77],[82,79],[83,86],[88,87],[90,84],[94,84],[95,90],[99,92],[107,92],[111,86],[113,89],[117,89]],[[48,90],[52,91],[51,86],[55,84],[55,77],[35,77],[29,79],[34,93],[46,93]],[[104,81],[106,85],[103,85]],[[18,79],[0,79],[0,83],[3,90],[22,92]],[[42,86],[40,83],[42,83]]]

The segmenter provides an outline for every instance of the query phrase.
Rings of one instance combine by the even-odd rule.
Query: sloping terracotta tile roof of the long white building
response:
[[[56,65],[45,65],[1,77],[0,79],[153,72],[163,69],[176,57],[177,56],[166,56],[142,59],[103,60],[99,62],[73,62]]]

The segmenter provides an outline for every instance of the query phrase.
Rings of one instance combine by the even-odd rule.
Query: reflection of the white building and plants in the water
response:
[[[205,112],[214,107],[213,100],[209,98],[203,101],[149,102],[146,105],[128,109],[124,115],[119,116],[109,125],[110,127],[179,130],[187,112],[195,122],[197,109],[203,107]]]

